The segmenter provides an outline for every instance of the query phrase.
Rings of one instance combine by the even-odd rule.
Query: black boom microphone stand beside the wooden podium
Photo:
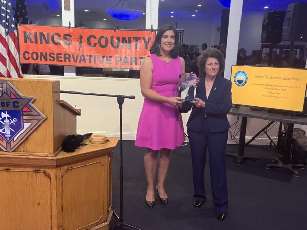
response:
[[[112,94],[96,94],[96,93],[83,93],[83,92],[75,92],[75,91],[62,91],[60,93],[64,94],[79,94],[79,95],[92,95],[92,96],[102,96],[102,97],[116,97],[117,103],[119,104],[119,122],[120,122],[120,216],[117,215],[115,211],[113,214],[118,219],[119,223],[113,229],[117,229],[118,227],[127,226],[136,230],[142,230],[141,228],[137,228],[130,224],[124,222],[123,219],[123,178],[124,178],[124,168],[123,168],[123,130],[122,130],[122,108],[125,98],[135,99],[136,97],[133,95],[112,95]]]

